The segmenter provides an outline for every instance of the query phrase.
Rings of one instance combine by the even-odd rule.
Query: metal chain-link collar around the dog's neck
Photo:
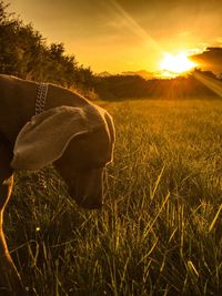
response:
[[[37,89],[37,101],[36,101],[36,115],[41,114],[44,111],[47,93],[48,93],[48,83],[40,83]],[[44,177],[44,171],[40,170],[38,172],[38,180],[41,190],[47,188],[47,181]]]

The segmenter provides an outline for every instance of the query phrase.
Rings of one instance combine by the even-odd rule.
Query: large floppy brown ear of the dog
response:
[[[59,106],[36,115],[20,131],[11,167],[39,170],[61,157],[69,142],[93,130],[84,108]]]

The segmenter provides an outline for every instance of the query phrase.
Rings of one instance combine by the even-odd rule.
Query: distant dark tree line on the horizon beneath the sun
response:
[[[195,73],[213,79],[221,84],[222,80],[211,71],[195,69],[186,76],[174,79],[145,80],[139,75],[110,75],[97,78],[94,89],[100,98],[115,101],[125,99],[196,99],[219,96],[201,81],[195,79]]]

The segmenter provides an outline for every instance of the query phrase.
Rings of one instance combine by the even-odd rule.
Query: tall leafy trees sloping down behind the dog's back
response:
[[[8,13],[0,1],[0,72],[39,82],[89,91],[93,88],[90,68],[65,53],[63,43],[48,44],[32,24]]]

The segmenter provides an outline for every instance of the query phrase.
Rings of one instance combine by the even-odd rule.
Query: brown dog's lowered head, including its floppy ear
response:
[[[112,118],[93,104],[59,106],[36,115],[20,131],[11,166],[39,170],[53,163],[79,205],[100,208],[102,176],[112,161]]]

